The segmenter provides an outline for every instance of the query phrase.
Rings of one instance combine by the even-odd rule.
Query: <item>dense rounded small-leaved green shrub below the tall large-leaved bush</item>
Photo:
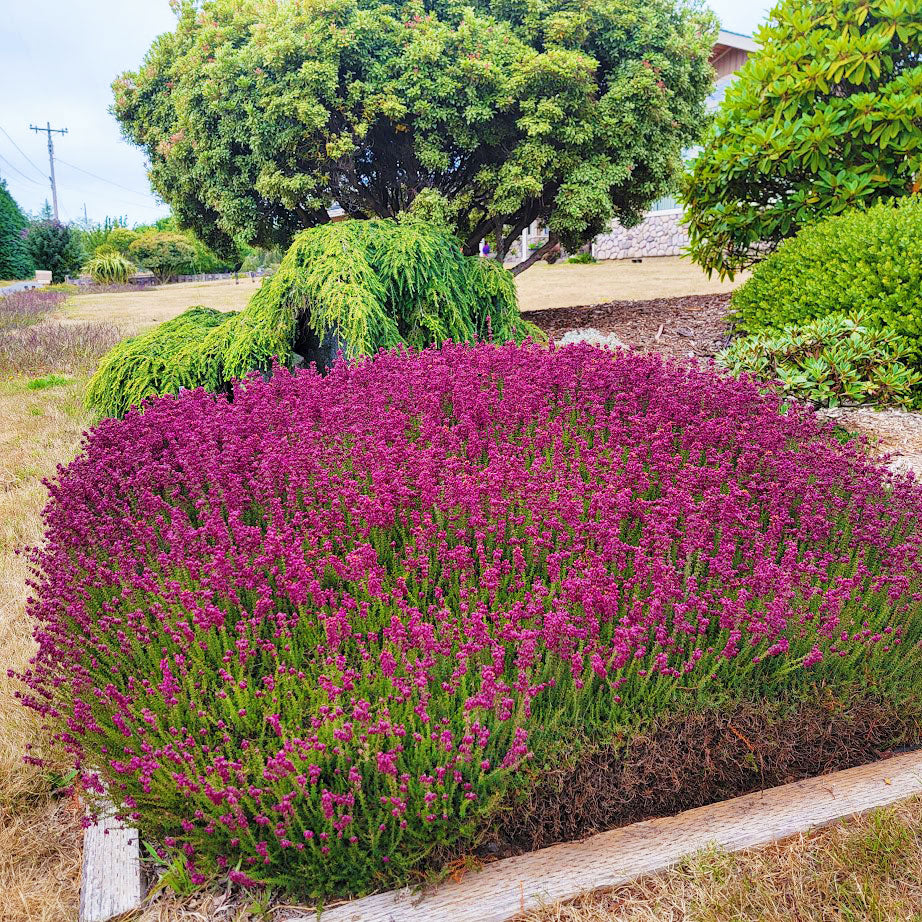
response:
[[[907,364],[922,371],[922,199],[804,228],[756,266],[730,303],[746,333],[866,311],[868,326],[906,338]]]

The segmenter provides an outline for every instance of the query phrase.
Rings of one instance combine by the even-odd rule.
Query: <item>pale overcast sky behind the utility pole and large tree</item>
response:
[[[723,27],[751,33],[771,4],[710,0]],[[63,220],[125,216],[147,223],[168,209],[151,192],[140,150],[109,114],[110,84],[136,69],[173,26],[167,0],[0,0],[0,176],[30,212],[51,198],[47,135],[54,135]],[[94,174],[94,175],[89,175]]]

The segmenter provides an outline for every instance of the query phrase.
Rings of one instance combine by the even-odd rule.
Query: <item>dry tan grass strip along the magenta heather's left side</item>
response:
[[[26,746],[41,752],[46,741],[6,670],[23,668],[33,652],[28,566],[15,551],[41,538],[41,480],[76,450],[88,422],[81,396],[80,382],[43,391],[21,379],[0,384],[0,922],[73,922],[77,914],[79,814],[54,793],[63,765],[24,764]]]

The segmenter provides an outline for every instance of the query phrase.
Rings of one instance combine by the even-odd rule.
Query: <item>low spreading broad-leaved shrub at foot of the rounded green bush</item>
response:
[[[779,333],[756,333],[738,339],[717,362],[734,375],[777,381],[785,394],[824,406],[910,404],[922,374],[905,364],[909,343],[866,321],[866,313],[831,315]]]

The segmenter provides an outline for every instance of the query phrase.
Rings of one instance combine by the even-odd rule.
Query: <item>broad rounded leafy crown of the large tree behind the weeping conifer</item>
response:
[[[413,211],[466,253],[536,219],[575,248],[639,220],[701,129],[716,25],[684,0],[179,2],[113,86],[210,245]]]

